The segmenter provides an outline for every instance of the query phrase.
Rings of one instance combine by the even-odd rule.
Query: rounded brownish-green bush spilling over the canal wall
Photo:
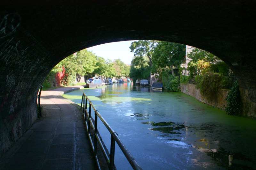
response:
[[[196,77],[197,88],[201,94],[208,100],[216,98],[218,90],[222,87],[222,75],[219,73],[207,72],[202,76]]]

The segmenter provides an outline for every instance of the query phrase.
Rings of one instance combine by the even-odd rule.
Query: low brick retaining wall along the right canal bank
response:
[[[225,99],[228,95],[228,92],[230,91],[228,89],[220,89],[217,92],[216,98],[210,101],[202,96],[202,94],[200,93],[200,90],[196,89],[196,85],[180,84],[180,89],[181,89],[181,92],[188,94],[190,96],[193,96],[194,98],[196,98],[201,102],[204,102],[214,107],[218,107],[220,109],[225,109],[225,107],[227,106],[227,101]]]

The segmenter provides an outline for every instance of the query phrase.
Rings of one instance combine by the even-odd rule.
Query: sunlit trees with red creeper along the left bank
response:
[[[80,83],[82,77],[121,78],[130,75],[130,66],[120,59],[105,60],[91,51],[83,49],[60,61],[43,82],[44,90],[58,86]],[[80,83],[81,84],[81,83]]]

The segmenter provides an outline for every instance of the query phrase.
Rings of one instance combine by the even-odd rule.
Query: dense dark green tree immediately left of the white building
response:
[[[174,75],[173,67],[180,66],[184,61],[186,46],[174,42],[159,41],[153,53],[154,69],[170,67]]]

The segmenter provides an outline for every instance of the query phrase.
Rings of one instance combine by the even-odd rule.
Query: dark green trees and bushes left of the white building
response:
[[[137,79],[149,79],[154,74],[163,82],[168,91],[179,91],[179,78],[174,69],[184,61],[186,46],[165,41],[140,40],[133,41],[130,46],[134,57],[130,76]],[[169,72],[172,76],[169,75]],[[175,84],[175,85],[174,85]]]

